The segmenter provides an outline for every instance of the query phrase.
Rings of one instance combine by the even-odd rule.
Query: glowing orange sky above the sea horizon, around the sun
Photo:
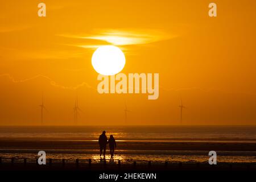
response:
[[[255,125],[256,1],[5,1],[0,125]],[[217,17],[208,16],[210,2]],[[159,98],[98,94],[91,57],[122,49],[122,73],[159,73]],[[125,102],[131,110],[125,123]]]

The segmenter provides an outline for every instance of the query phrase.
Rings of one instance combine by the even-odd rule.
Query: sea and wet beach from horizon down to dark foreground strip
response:
[[[13,157],[22,162],[23,158],[34,160],[38,151],[44,150],[53,162],[60,159],[75,162],[78,158],[81,162],[92,159],[100,163],[97,139],[102,130],[106,130],[108,137],[113,134],[117,140],[113,162],[208,162],[209,150],[201,148],[200,143],[193,143],[214,142],[220,143],[218,146],[222,148],[217,151],[218,162],[256,163],[256,147],[243,150],[249,144],[252,147],[256,144],[255,126],[0,127],[0,156],[3,162]],[[185,142],[180,144],[181,149],[188,144],[191,148],[175,150],[175,142]],[[232,151],[230,143],[233,147],[243,146],[241,150],[238,146],[237,151]],[[109,151],[106,159],[110,159]]]

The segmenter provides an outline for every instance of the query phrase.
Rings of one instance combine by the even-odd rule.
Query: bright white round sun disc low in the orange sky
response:
[[[92,65],[101,75],[115,75],[125,67],[125,55],[115,46],[101,46],[92,56]]]

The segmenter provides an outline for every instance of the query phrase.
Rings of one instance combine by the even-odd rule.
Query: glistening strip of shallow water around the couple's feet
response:
[[[221,155],[219,154],[217,157],[218,162],[227,162],[227,163],[256,163],[256,157],[254,154],[250,155],[236,155],[236,154],[230,154],[230,155]],[[6,159],[10,160],[11,158],[15,158],[18,162],[23,162],[23,158],[31,159],[34,161],[36,157],[36,152],[32,153],[5,153],[1,154],[3,158],[3,162]],[[66,162],[75,163],[75,159],[79,159],[80,162],[88,162],[88,159],[92,159],[93,163],[99,163],[101,162],[100,156],[98,154],[90,153],[90,154],[65,154],[65,153],[59,153],[59,154],[52,154],[47,153],[47,158],[53,159],[53,162],[61,162],[61,159],[66,159]],[[20,160],[19,160],[20,159]],[[209,156],[207,154],[202,155],[200,154],[185,154],[184,152],[181,152],[181,154],[172,154],[170,151],[169,154],[133,154],[133,153],[119,153],[117,151],[117,154],[114,156],[114,162],[117,162],[118,160],[121,160],[122,163],[132,163],[133,161],[137,162],[157,162],[157,163],[163,163],[165,161],[168,162],[208,162]],[[110,155],[106,155],[106,160],[110,160]]]

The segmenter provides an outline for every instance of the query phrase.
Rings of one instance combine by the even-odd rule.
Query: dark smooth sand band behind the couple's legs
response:
[[[0,149],[97,150],[96,141],[77,140],[0,140]],[[256,151],[255,142],[117,142],[117,150],[190,150],[190,151]]]

